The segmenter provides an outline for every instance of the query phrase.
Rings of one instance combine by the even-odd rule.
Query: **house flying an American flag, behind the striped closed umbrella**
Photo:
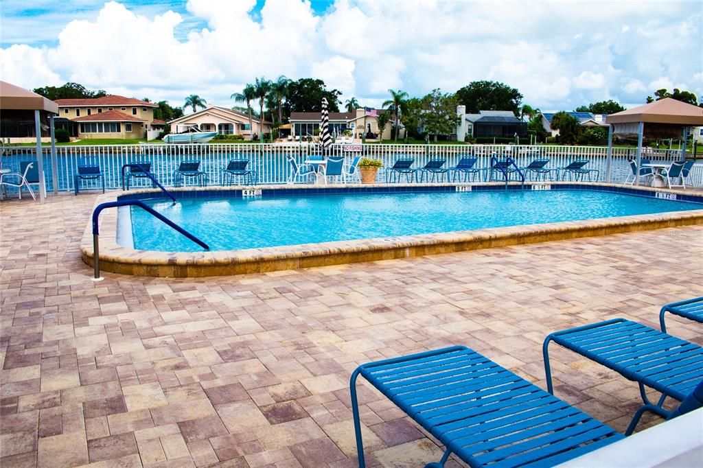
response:
[[[374,134],[378,136],[378,115],[381,112],[387,112],[384,109],[358,108],[354,112],[330,112],[328,118],[330,120],[330,133],[337,136],[342,132],[352,131],[354,138],[361,139],[363,134]],[[316,131],[320,129],[320,120],[322,115],[320,112],[291,112],[290,124],[292,125],[291,134],[294,137],[315,136]],[[404,138],[404,127],[401,126],[399,138]],[[383,129],[382,138],[390,140],[393,138],[392,122],[389,119]],[[375,138],[378,139],[378,138]]]

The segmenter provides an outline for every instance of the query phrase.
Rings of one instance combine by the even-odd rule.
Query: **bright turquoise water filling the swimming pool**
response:
[[[172,205],[146,200],[205,241],[236,250],[385,238],[703,209],[703,204],[588,190],[509,190],[264,198],[197,198]],[[138,207],[131,208],[134,248],[202,248]]]

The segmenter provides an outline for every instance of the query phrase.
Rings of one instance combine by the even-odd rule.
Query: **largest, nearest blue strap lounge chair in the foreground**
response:
[[[362,375],[472,467],[552,466],[624,438],[479,353],[453,346],[359,366],[350,391],[359,467],[366,466],[356,378]]]

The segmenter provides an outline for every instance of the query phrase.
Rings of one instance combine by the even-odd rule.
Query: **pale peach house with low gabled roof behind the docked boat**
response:
[[[178,119],[167,122],[171,126],[171,131],[178,134],[186,130],[188,126],[197,125],[202,131],[217,131],[222,135],[243,135],[245,139],[249,137],[260,136],[262,131],[264,134],[271,133],[271,122],[264,120],[263,129],[262,121],[258,117],[252,115],[253,129],[249,128],[249,116],[244,112],[221,108],[217,105],[211,105],[198,112],[184,115]]]

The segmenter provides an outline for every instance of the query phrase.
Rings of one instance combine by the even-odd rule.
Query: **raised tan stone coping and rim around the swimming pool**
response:
[[[654,189],[640,186],[623,186],[613,183],[574,183],[549,182],[527,183],[531,186],[550,186],[554,190],[605,190],[615,193],[637,193],[659,196],[657,193],[674,194],[679,198],[703,201],[703,194],[692,194],[684,190]],[[504,183],[435,183],[435,184],[346,184],[344,186],[232,186],[228,188],[179,188],[172,190],[183,198],[217,197],[224,194],[242,196],[242,190],[292,190],[293,195],[325,195],[333,193],[354,193],[358,190],[370,192],[428,192],[456,191],[456,187],[470,187],[468,190],[496,190]],[[519,190],[519,183],[511,183],[511,190]],[[154,195],[152,195],[154,194]],[[106,193],[98,196],[95,206],[124,198],[158,197],[158,190],[130,190],[129,192]],[[666,196],[666,195],[662,195]],[[94,209],[94,207],[93,207]],[[638,230],[652,230],[675,226],[703,224],[703,209],[686,212],[664,212],[621,216],[618,218],[588,219],[582,221],[562,221],[558,223],[529,224],[503,228],[462,230],[449,233],[395,236],[321,242],[259,249],[226,250],[216,252],[156,252],[129,249],[117,244],[117,210],[108,209],[101,214],[100,226],[100,267],[101,271],[138,276],[165,278],[196,278],[204,276],[238,275],[243,273],[265,273],[280,270],[293,270],[316,266],[350,264],[362,261],[401,259],[410,256],[446,254],[467,250],[522,245],[548,240],[566,240],[628,233]],[[84,263],[93,266],[93,235],[91,222],[87,223],[80,242]]]

